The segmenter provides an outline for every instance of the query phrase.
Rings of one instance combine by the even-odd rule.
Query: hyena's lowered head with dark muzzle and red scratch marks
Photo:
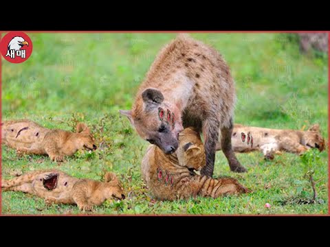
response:
[[[166,154],[175,152],[179,132],[184,129],[181,111],[166,102],[157,89],[146,89],[140,96],[133,110],[120,110],[120,113],[128,117],[140,137],[157,145]]]

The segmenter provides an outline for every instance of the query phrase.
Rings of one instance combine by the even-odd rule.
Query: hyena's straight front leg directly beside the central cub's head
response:
[[[201,169],[201,175],[203,176],[212,177],[213,175],[215,148],[219,139],[219,126],[219,121],[216,119],[207,119],[203,122],[204,148],[206,154],[206,165]]]

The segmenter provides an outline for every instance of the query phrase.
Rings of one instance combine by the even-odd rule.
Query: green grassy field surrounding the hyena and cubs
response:
[[[45,156],[23,156],[2,147],[2,175],[50,167],[79,178],[99,180],[104,170],[122,180],[126,199],[107,201],[95,214],[324,214],[328,212],[328,149],[314,163],[316,204],[304,178],[307,167],[295,154],[264,161],[259,152],[237,154],[248,173],[234,174],[222,152],[214,176],[239,179],[252,189],[243,196],[152,200],[140,174],[148,143],[140,139],[119,109],[129,109],[157,51],[175,34],[30,34],[32,56],[22,64],[2,60],[2,117],[31,119],[47,128],[74,130],[84,121],[94,133],[94,153],[78,152],[62,164]],[[236,81],[235,123],[305,130],[320,124],[327,131],[327,55],[300,54],[294,35],[192,34],[217,48]],[[265,203],[271,208],[266,209]],[[21,192],[2,193],[3,214],[77,214],[71,205],[46,206]]]

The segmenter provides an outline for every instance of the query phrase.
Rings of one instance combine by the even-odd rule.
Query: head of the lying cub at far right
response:
[[[314,124],[314,126],[311,126],[309,130],[304,132],[302,141],[307,148],[318,148],[320,151],[325,150],[325,139],[320,134],[318,124]]]

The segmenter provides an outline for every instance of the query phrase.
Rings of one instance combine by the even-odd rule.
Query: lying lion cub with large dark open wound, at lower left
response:
[[[1,181],[3,191],[22,191],[45,198],[47,204],[77,204],[80,210],[91,211],[109,198],[124,199],[123,189],[112,172],[104,175],[104,182],[79,179],[64,172],[43,170]]]

